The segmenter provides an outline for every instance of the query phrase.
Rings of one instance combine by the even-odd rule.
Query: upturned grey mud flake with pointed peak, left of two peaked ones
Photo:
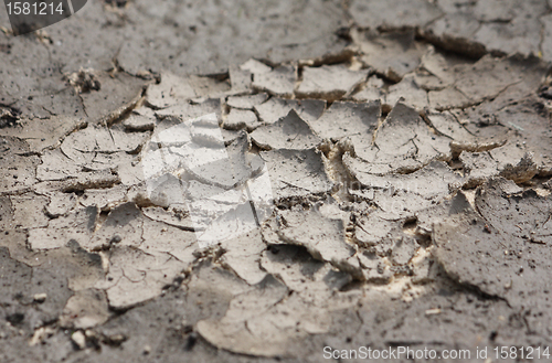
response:
[[[309,125],[294,109],[278,121],[257,128],[251,137],[257,146],[268,150],[305,150],[320,143],[320,139],[312,132]]]

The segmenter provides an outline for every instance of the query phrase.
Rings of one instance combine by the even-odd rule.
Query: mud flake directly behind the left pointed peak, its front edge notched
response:
[[[254,106],[259,121],[274,124],[294,109],[307,122],[317,120],[326,108],[326,102],[319,99],[282,99],[273,97],[262,105]]]

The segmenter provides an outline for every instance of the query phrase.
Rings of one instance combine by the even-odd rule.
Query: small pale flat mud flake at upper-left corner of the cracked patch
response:
[[[153,107],[166,108],[195,97],[188,78],[163,73],[160,84],[148,86],[146,99]]]

